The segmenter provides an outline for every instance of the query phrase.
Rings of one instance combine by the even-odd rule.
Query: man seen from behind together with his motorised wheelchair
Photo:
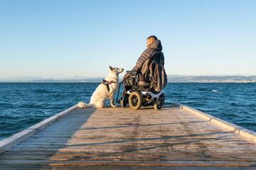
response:
[[[134,109],[153,105],[156,110],[160,110],[164,105],[164,92],[161,89],[164,89],[167,78],[161,41],[152,35],[146,39],[146,47],[136,66],[127,71],[121,82],[124,83],[124,92],[117,103],[121,103],[123,108],[127,103]]]

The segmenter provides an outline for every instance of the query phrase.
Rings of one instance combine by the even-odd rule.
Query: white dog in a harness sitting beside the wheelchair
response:
[[[80,108],[103,108],[104,103],[107,99],[110,99],[110,104],[113,108],[117,107],[114,105],[114,94],[118,89],[119,73],[122,73],[124,69],[113,68],[110,66],[110,72],[108,76],[103,79],[102,84],[97,86],[95,92],[93,92],[90,103],[86,104],[83,102],[78,103]]]

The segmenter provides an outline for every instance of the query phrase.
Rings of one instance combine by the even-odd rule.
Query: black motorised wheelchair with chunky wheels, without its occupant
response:
[[[155,91],[151,83],[139,81],[139,73],[127,71],[128,76],[119,83],[124,84],[124,92],[121,99],[118,100],[119,89],[117,93],[116,103],[121,103],[122,108],[126,108],[129,103],[130,108],[139,109],[142,106],[154,106],[159,111],[164,106],[164,91]]]

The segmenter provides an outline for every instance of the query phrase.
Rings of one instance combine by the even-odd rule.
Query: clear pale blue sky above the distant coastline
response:
[[[167,74],[256,75],[255,8],[255,0],[1,0],[0,79],[126,71],[149,35],[162,42]]]

